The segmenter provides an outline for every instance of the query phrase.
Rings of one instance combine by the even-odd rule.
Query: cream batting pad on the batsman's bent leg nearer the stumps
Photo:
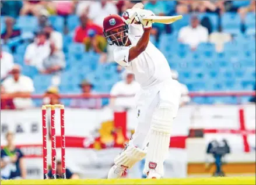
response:
[[[141,161],[146,156],[146,151],[128,145],[127,149],[115,158],[114,163],[118,166],[132,168],[136,162]]]

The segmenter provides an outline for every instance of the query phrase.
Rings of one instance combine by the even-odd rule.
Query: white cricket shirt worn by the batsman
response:
[[[114,59],[115,62],[134,73],[135,80],[145,89],[166,79],[171,79],[171,70],[162,52],[150,41],[141,55],[128,62],[129,49],[137,44],[142,34],[141,24],[129,24],[128,37],[132,44],[128,47],[115,46]]]

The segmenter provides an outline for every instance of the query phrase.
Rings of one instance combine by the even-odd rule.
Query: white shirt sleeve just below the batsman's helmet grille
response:
[[[130,47],[116,48],[114,50],[115,62],[123,67],[127,67],[131,64],[131,62],[129,62],[129,48]]]

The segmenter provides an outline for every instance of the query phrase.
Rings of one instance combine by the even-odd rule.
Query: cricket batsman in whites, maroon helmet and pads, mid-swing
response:
[[[103,21],[108,44],[115,47],[115,62],[134,73],[141,85],[135,95],[138,125],[129,143],[114,159],[108,179],[121,177],[125,170],[145,157],[143,173],[148,179],[160,179],[164,175],[163,163],[169,151],[171,127],[181,93],[171,79],[166,58],[149,41],[152,22],[143,20],[148,15],[154,14],[137,3],[122,17],[109,15]]]

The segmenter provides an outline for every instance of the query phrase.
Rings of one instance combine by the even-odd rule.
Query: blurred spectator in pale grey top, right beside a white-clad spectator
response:
[[[63,51],[59,51],[54,42],[50,44],[50,55],[43,60],[42,74],[52,74],[65,68],[65,55]]]

